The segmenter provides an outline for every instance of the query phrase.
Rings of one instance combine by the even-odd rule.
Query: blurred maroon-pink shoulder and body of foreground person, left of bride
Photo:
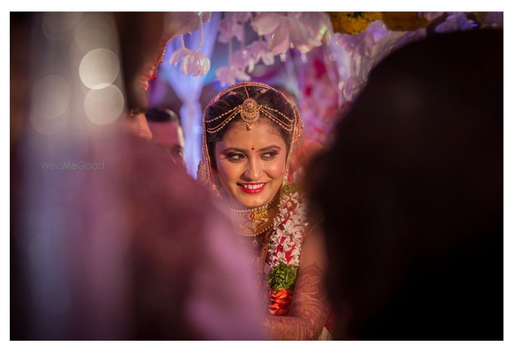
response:
[[[167,150],[132,143],[126,191],[134,315],[128,337],[261,339],[249,262],[232,240],[227,214],[180,164],[166,163]]]

